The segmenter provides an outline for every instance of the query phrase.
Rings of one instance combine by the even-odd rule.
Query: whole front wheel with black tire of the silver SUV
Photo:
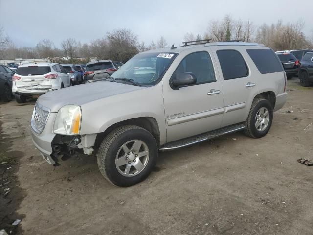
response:
[[[139,149],[134,147],[133,141],[138,141],[136,143],[141,141],[141,145],[136,144],[141,147]],[[136,151],[132,150],[133,148]],[[131,154],[126,153],[128,150]],[[138,157],[138,153],[142,156]],[[157,153],[156,140],[150,132],[139,126],[122,126],[113,130],[102,141],[97,154],[98,167],[110,183],[128,187],[143,181],[150,174],[156,164]],[[117,159],[120,160],[119,166]],[[127,167],[130,170],[127,170]]]

